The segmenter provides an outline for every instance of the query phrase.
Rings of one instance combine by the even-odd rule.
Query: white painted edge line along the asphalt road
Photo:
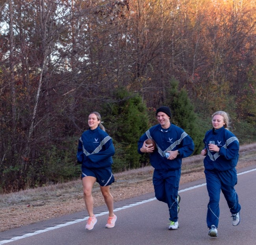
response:
[[[248,170],[248,171],[242,172],[242,173],[239,173],[239,174],[237,174],[237,175],[247,174],[247,173],[252,172],[252,171],[255,171],[255,170],[256,170],[256,168],[254,168],[254,169],[252,169],[252,170]],[[186,188],[186,189],[184,189],[184,190],[179,190],[179,193],[180,193],[180,192],[185,192],[185,191],[188,191],[188,190],[192,190],[192,189],[195,189],[195,188],[204,186],[204,185],[206,185],[206,183],[203,183],[203,184],[201,184],[201,185],[191,186],[191,187]],[[147,202],[154,201],[154,200],[156,200],[156,197],[150,198],[150,199],[147,199],[147,200],[144,200],[144,201],[140,201],[140,202],[137,202],[137,203],[132,203],[132,204],[130,204],[130,205],[126,205],[126,206],[123,206],[123,207],[120,207],[120,208],[116,208],[116,209],[114,210],[114,212],[119,211],[119,210],[123,210],[123,209],[126,209],[126,208],[131,208],[131,207],[134,207],[134,206],[137,206],[137,205],[141,205],[141,204],[143,204],[143,203],[147,203]],[[102,212],[102,213],[100,213],[100,214],[95,214],[95,216],[98,217],[98,216],[102,216],[102,215],[105,215],[105,214],[108,214],[108,212]],[[85,218],[83,218],[83,219],[76,219],[76,220],[74,220],[74,221],[70,221],[70,222],[67,222],[67,223],[65,223],[65,224],[56,225],[56,226],[54,226],[54,227],[48,227],[48,228],[46,228],[46,229],[44,229],[44,230],[37,230],[37,231],[35,231],[35,232],[33,232],[33,233],[28,233],[28,234],[25,234],[25,235],[23,235],[23,236],[16,236],[16,237],[14,237],[14,238],[11,238],[10,240],[3,240],[3,241],[0,241],[0,245],[9,243],[9,242],[11,242],[11,241],[17,241],[17,240],[20,240],[20,239],[22,239],[22,238],[27,238],[27,237],[29,237],[29,236],[34,236],[34,235],[37,235],[37,234],[40,234],[40,233],[43,233],[43,232],[47,232],[47,231],[50,231],[50,230],[59,229],[59,228],[61,228],[61,227],[65,227],[65,226],[68,226],[68,225],[73,225],[73,224],[75,224],[75,223],[79,223],[79,222],[85,221],[85,220],[87,220],[88,218],[89,218],[89,216],[87,216],[87,217],[85,217]]]

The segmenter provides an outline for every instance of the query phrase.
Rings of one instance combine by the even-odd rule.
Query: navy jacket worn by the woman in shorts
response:
[[[113,163],[115,148],[111,137],[98,126],[83,132],[77,150],[77,161],[82,168],[106,168]]]

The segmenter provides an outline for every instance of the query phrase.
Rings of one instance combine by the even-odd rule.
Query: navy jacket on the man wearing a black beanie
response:
[[[157,149],[150,154],[150,163],[157,170],[176,170],[181,168],[182,158],[188,157],[194,151],[191,137],[182,128],[171,124],[167,129],[157,124],[144,133],[138,141],[138,152],[146,139],[153,139]],[[173,160],[165,158],[165,152],[179,150],[180,154]]]

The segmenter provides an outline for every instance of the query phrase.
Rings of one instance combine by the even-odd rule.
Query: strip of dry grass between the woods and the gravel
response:
[[[183,159],[182,175],[202,172],[204,169],[203,158],[201,155],[195,155]],[[256,158],[256,143],[240,146],[239,160]],[[151,181],[153,168],[147,166],[144,168],[128,170],[122,173],[115,174],[115,185],[113,188],[127,186],[127,183],[141,183],[144,181]],[[95,184],[93,192],[99,189],[98,184]],[[9,207],[10,205],[21,205],[32,202],[40,203],[40,201],[49,201],[49,199],[58,199],[59,197],[69,194],[74,197],[81,196],[83,190],[81,180],[70,181],[68,183],[60,183],[56,185],[48,185],[35,189],[22,190],[20,192],[1,194],[0,207]],[[39,205],[39,204],[38,204]]]

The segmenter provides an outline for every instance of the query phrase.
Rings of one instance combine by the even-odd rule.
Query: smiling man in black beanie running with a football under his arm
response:
[[[171,123],[169,107],[158,108],[156,116],[159,124],[152,126],[140,137],[138,152],[150,153],[150,163],[154,167],[153,185],[156,199],[167,203],[170,214],[169,230],[177,230],[182,158],[193,153],[194,143],[182,128]]]

